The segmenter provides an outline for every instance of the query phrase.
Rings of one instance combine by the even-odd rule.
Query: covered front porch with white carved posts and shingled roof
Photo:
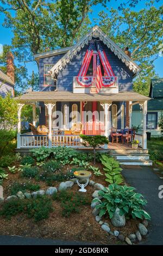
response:
[[[146,138],[146,113],[147,113],[147,100],[149,99],[146,96],[134,93],[134,92],[120,92],[120,93],[112,93],[112,94],[83,94],[83,93],[71,93],[71,92],[30,92],[22,95],[21,97],[16,97],[18,100],[19,108],[18,108],[18,133],[17,133],[17,149],[30,149],[30,148],[39,148],[39,147],[72,147],[76,149],[84,149],[82,144],[82,139],[80,139],[80,134],[84,133],[86,135],[104,135],[107,138],[111,135],[111,127],[115,127],[117,125],[117,112],[114,115],[111,115],[112,106],[115,105],[114,102],[120,102],[121,106],[125,103],[125,117],[124,112],[121,119],[121,126],[131,129],[131,113],[132,106],[135,104],[140,104],[143,111],[143,134],[135,135],[134,139],[139,140],[139,146],[142,149],[147,149],[147,138]],[[48,132],[47,135],[37,135],[37,134],[21,134],[21,109],[25,104],[30,104],[33,106],[33,125],[36,124],[36,107],[40,108],[39,102],[43,102],[48,118]],[[72,113],[72,122],[73,123],[79,121],[83,124],[83,129],[80,133],[72,133],[68,132],[63,134],[59,134],[57,131],[60,130],[60,127],[57,126],[56,129],[53,130],[52,126],[52,116],[53,109],[56,111],[57,102],[76,102],[79,107],[79,115],[76,113],[76,109]],[[91,105],[91,113],[92,119],[91,121],[85,121],[84,112],[85,106]],[[97,120],[96,113],[94,111],[97,110],[97,105],[101,108],[101,112],[103,115],[103,121]],[[64,105],[65,106],[65,105]],[[65,110],[65,109],[64,109]],[[122,109],[121,109],[122,111]],[[124,111],[124,110],[123,110]],[[40,109],[41,112],[41,109]],[[67,113],[67,115],[69,112]],[[62,130],[67,130],[64,123],[68,116],[65,115],[61,118]],[[126,119],[124,123],[124,118]],[[89,126],[88,126],[89,124]],[[97,125],[98,124],[98,125]],[[70,126],[70,127],[71,127]],[[98,128],[97,128],[97,127]],[[69,127],[69,128],[70,128]],[[116,126],[117,127],[117,126]],[[124,129],[123,127],[123,129]],[[117,129],[117,132],[121,132],[121,129]],[[118,143],[109,143],[109,145],[104,145],[99,150],[118,150],[118,149],[130,149],[131,146],[127,144]]]

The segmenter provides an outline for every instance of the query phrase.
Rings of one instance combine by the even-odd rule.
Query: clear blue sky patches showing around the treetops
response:
[[[125,2],[127,0],[111,0],[108,4],[107,4],[107,7],[110,9],[111,7],[114,8],[114,9],[117,9],[118,8],[118,5],[122,2]],[[146,8],[145,6],[145,0],[141,0],[139,2],[139,4],[136,5],[135,8],[133,8],[134,10],[136,11],[139,11],[140,9],[142,8]],[[159,3],[154,3],[154,6],[155,7],[159,7],[159,5],[161,5],[161,2],[160,1]],[[101,4],[98,4],[96,5],[96,7],[94,7],[92,9],[92,14],[90,14],[90,19],[92,20],[93,18],[97,17],[98,16],[98,13],[99,11],[101,10],[104,10],[104,7],[102,7]],[[12,39],[12,31],[11,29],[9,28],[4,28],[2,26],[3,24],[3,21],[4,21],[4,16],[1,15],[0,16],[0,44],[11,44],[11,39]],[[95,25],[94,23],[92,23],[92,25]],[[163,43],[163,42],[162,42]],[[163,70],[162,70],[162,66],[163,66],[163,57],[158,57],[158,59],[155,60],[154,62],[154,65],[155,65],[155,70],[157,72],[157,74],[160,76],[160,77],[163,77]],[[27,63],[26,64],[26,67],[28,69],[28,74],[32,74],[32,71],[37,71],[37,65],[35,63]]]

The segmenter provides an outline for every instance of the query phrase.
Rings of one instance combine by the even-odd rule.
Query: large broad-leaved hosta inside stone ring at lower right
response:
[[[143,209],[147,201],[142,194],[135,192],[134,187],[111,184],[108,188],[105,187],[102,191],[99,191],[98,194],[102,199],[93,199],[93,202],[99,202],[96,208],[100,209],[99,216],[101,217],[107,213],[111,219],[118,207],[120,215],[124,214],[128,218],[151,219]]]

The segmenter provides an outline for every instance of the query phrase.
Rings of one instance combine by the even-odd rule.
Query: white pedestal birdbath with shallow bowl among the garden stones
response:
[[[76,170],[76,172],[73,173],[73,175],[77,178],[77,184],[80,187],[80,192],[86,192],[85,187],[89,184],[90,176],[92,175],[91,172],[88,172],[87,170]],[[85,179],[85,184],[80,184],[80,180]]]

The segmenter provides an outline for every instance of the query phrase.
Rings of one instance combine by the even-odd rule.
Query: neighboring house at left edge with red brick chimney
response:
[[[5,97],[7,93],[14,96],[14,57],[10,52],[7,57],[7,74],[0,69],[0,95]]]

